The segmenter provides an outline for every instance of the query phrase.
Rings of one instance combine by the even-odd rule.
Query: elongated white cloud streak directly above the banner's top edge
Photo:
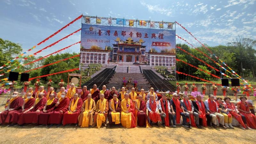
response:
[[[159,12],[166,16],[171,16],[171,14],[172,14],[172,10],[170,8],[168,8],[168,9],[161,8],[161,7],[159,7],[159,5],[150,5],[150,4],[147,4],[144,2],[140,2],[140,4],[147,7],[149,12]]]

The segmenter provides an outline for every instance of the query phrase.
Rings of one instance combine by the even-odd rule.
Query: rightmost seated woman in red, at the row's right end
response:
[[[247,125],[251,128],[256,129],[256,116],[254,116],[250,109],[249,104],[246,102],[247,98],[242,96],[239,98],[241,101],[237,103],[237,109],[245,116]]]

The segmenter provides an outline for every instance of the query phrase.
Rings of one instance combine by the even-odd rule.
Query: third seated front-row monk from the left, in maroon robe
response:
[[[47,98],[42,95],[43,93],[39,93],[38,98],[34,102],[34,105],[19,115],[19,120],[17,122],[19,125],[31,124],[31,123],[37,124],[38,115],[40,112],[43,111],[44,106],[47,102]],[[55,97],[54,93],[50,94],[49,96],[50,99],[54,97]]]

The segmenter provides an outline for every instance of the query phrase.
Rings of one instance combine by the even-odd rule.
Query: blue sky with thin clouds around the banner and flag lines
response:
[[[227,44],[238,35],[256,39],[256,0],[159,1],[152,0],[1,0],[0,37],[22,44],[23,51],[41,42],[80,14],[152,21],[177,21],[202,43]],[[253,8],[254,7],[254,8]],[[36,47],[36,52],[81,28],[81,20]],[[191,44],[199,44],[176,25],[176,33]],[[44,56],[80,41],[80,33],[48,48]],[[176,44],[183,43],[176,38]],[[79,52],[79,45],[68,52]],[[31,52],[31,53],[32,53]],[[29,54],[31,54],[29,53]]]

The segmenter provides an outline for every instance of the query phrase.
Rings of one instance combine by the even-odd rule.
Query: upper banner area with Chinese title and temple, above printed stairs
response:
[[[175,45],[175,30],[82,24],[80,62],[175,67]],[[91,58],[92,52],[97,52],[100,60]],[[160,62],[155,62],[157,55],[162,55]]]

